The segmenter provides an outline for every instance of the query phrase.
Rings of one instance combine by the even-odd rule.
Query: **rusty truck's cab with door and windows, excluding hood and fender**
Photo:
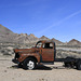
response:
[[[40,62],[54,62],[55,43],[52,41],[39,41],[36,48],[40,50]]]

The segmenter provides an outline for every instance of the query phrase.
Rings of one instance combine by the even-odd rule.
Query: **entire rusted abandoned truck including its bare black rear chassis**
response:
[[[56,48],[53,41],[38,41],[35,48],[15,49],[14,52],[15,57],[12,62],[23,66],[24,69],[35,69],[41,63],[54,64],[54,62],[64,62],[65,66],[76,67],[81,70],[81,58],[56,58]]]

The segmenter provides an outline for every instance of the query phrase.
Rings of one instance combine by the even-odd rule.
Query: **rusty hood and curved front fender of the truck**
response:
[[[27,57],[36,57],[38,63],[40,62],[40,56],[38,54],[39,50],[36,49],[36,48],[32,48],[32,49],[15,49],[14,52],[15,52],[15,54],[19,55],[19,57],[17,58],[17,60],[19,63],[22,63]]]

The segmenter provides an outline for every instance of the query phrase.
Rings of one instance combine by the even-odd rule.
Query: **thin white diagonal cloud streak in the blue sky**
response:
[[[46,30],[49,30],[49,29],[51,29],[51,28],[53,28],[53,27],[55,27],[55,26],[58,26],[58,25],[63,24],[64,22],[68,21],[69,18],[72,18],[73,16],[76,16],[76,15],[78,15],[78,14],[80,14],[80,13],[81,13],[81,10],[78,11],[78,12],[75,12],[75,13],[72,13],[72,14],[70,14],[70,15],[68,15],[68,16],[66,16],[65,18],[58,21],[57,23],[55,23],[55,24],[53,24],[53,25],[46,27],[45,29],[39,31],[39,35],[45,32]]]

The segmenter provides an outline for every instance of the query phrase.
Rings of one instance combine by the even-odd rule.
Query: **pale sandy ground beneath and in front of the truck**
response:
[[[0,81],[81,81],[81,71],[65,68],[63,63],[24,70],[11,60],[12,57],[0,56]]]

